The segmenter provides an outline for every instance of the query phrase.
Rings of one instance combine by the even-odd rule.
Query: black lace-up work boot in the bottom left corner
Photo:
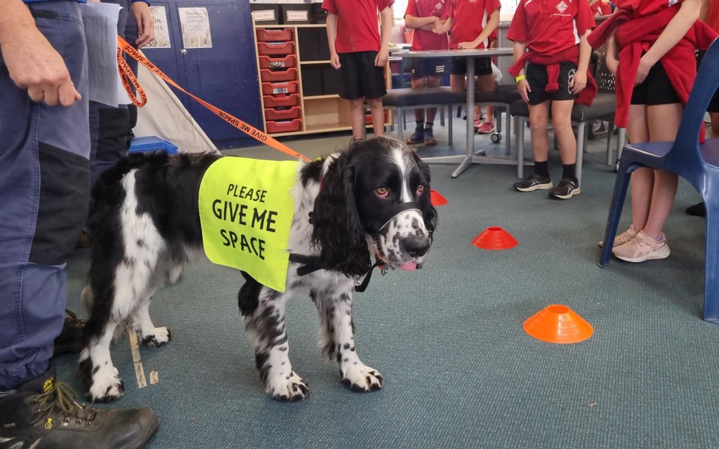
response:
[[[142,448],[157,430],[157,416],[141,409],[96,409],[75,402],[68,384],[55,383],[55,367],[0,396],[0,448]]]

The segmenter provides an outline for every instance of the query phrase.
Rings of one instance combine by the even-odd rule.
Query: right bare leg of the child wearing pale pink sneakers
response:
[[[671,142],[677,137],[679,122],[684,108],[680,103],[647,106],[646,119],[649,124],[650,142]],[[655,239],[661,236],[664,222],[677,195],[679,177],[664,170],[654,170],[654,191],[644,232]]]

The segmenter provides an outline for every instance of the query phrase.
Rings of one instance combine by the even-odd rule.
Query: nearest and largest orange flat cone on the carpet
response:
[[[594,330],[580,315],[566,305],[554,304],[540,310],[524,322],[524,331],[547,343],[579,343]]]

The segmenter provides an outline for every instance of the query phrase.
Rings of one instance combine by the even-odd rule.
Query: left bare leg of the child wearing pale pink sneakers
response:
[[[627,134],[629,142],[649,142],[649,126],[646,120],[646,105],[629,106]],[[649,217],[651,192],[654,190],[654,170],[639,168],[631,174],[632,225],[637,231],[644,229]]]

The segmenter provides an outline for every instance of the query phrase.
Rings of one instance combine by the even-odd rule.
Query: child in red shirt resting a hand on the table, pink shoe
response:
[[[488,48],[490,35],[495,32],[499,24],[499,0],[447,0],[442,14],[446,19],[438,32],[449,33],[449,48]],[[452,92],[464,91],[464,78],[467,74],[467,58],[454,57],[449,68],[449,85]],[[494,92],[496,83],[492,73],[492,60],[490,57],[475,57],[475,75],[480,89],[485,92]],[[467,80],[467,83],[474,83]],[[489,114],[487,114],[489,115]],[[477,131],[492,132],[494,123],[485,121],[478,126]]]

